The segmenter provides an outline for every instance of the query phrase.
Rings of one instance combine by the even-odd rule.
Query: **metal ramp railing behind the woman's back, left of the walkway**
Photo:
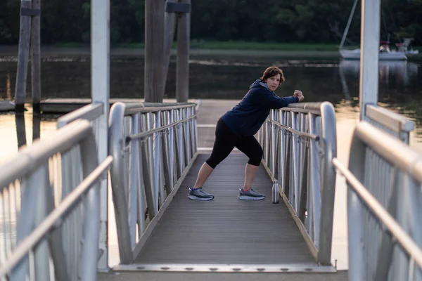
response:
[[[194,103],[115,103],[109,153],[120,263],[132,263],[196,159]]]

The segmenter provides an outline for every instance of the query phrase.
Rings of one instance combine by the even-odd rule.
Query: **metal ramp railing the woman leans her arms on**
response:
[[[316,261],[331,264],[337,138],[331,103],[271,110],[258,133],[263,162]]]

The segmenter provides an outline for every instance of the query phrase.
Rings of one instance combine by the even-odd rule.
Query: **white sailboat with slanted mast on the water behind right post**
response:
[[[347,32],[349,31],[350,22],[352,22],[354,10],[357,6],[357,1],[358,0],[354,0],[352,11],[350,12],[349,20],[347,21],[345,32],[339,46],[340,55],[346,60],[360,60],[360,48],[355,48],[353,50],[343,48]],[[411,38],[404,38],[403,43],[396,44],[397,50],[391,50],[388,41],[381,41],[378,60],[407,60],[407,55],[416,55],[418,51],[412,49],[408,50],[412,40],[413,39]]]

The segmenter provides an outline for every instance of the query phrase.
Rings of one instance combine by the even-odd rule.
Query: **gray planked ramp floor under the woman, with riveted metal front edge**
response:
[[[319,266],[283,203],[271,202],[271,180],[261,166],[254,186],[266,200],[238,200],[248,161],[233,152],[205,183],[209,202],[189,200],[188,188],[208,154],[199,154],[134,263],[114,270],[335,272]]]

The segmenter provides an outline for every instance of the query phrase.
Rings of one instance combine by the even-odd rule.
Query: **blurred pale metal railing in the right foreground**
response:
[[[333,164],[348,184],[349,280],[422,280],[422,155],[360,122],[349,169]]]

